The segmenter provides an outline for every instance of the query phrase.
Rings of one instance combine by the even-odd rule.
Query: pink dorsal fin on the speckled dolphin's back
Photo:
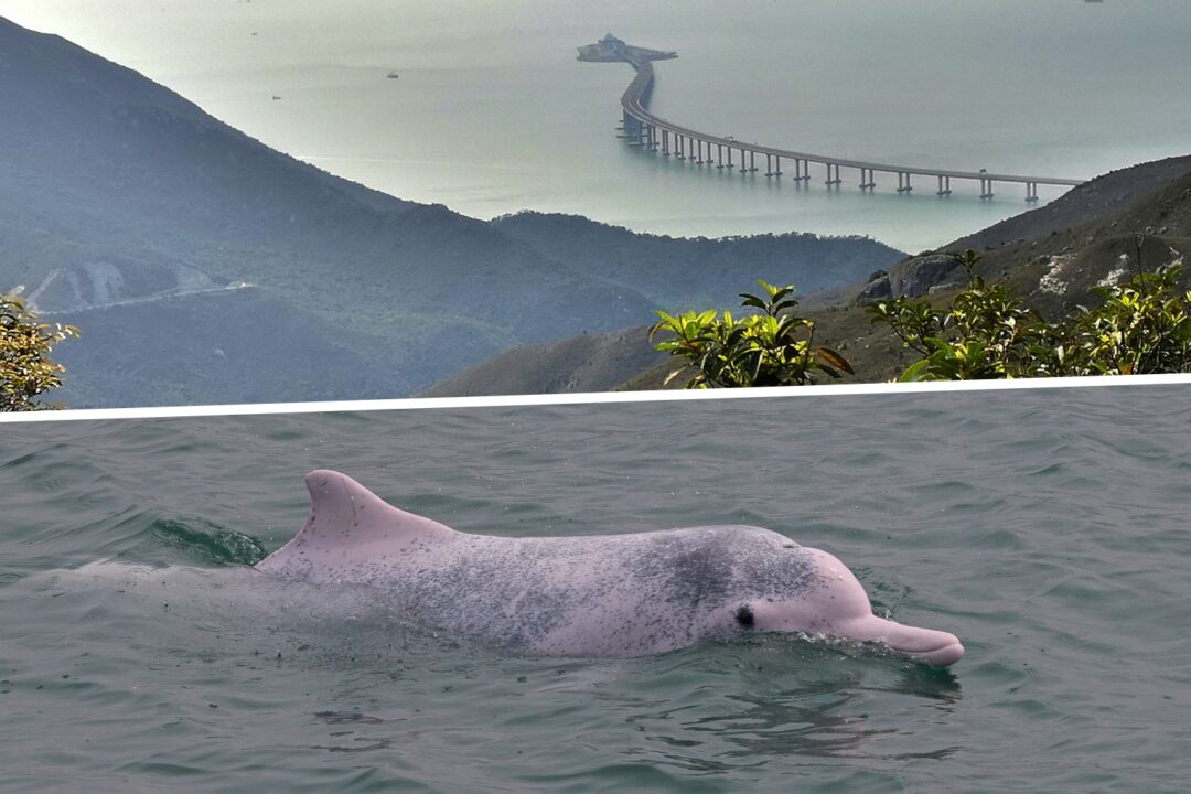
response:
[[[345,474],[318,469],[306,475],[310,518],[294,538],[257,564],[278,569],[311,554],[331,552],[339,562],[399,552],[419,539],[443,538],[455,530],[387,504]]]

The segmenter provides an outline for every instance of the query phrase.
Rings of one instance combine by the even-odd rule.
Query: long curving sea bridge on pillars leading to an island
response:
[[[654,86],[654,61],[678,57],[675,52],[663,52],[660,50],[648,50],[646,48],[631,46],[616,38],[611,33],[596,44],[579,48],[580,61],[610,62],[623,61],[636,70],[636,76],[624,94],[621,96],[621,108],[623,111],[623,124],[621,126],[622,137],[630,146],[642,146],[650,151],[660,151],[663,157],[675,157],[676,160],[692,163],[694,165],[715,165],[717,169],[740,169],[741,174],[755,174],[760,157],[765,157],[765,175],[769,179],[784,176],[781,161],[785,160],[793,168],[793,180],[798,182],[810,182],[811,163],[822,165],[825,169],[824,185],[836,187],[843,182],[842,170],[854,170],[859,174],[859,187],[861,190],[877,189],[877,174],[890,174],[897,176],[897,192],[910,193],[913,189],[913,179],[924,177],[936,180],[936,195],[949,196],[952,194],[952,180],[969,180],[980,186],[980,199],[993,198],[993,185],[997,182],[1018,183],[1025,186],[1025,200],[1029,202],[1039,200],[1040,185],[1055,185],[1062,187],[1074,187],[1083,185],[1085,180],[1059,179],[1055,176],[1025,176],[1021,174],[993,174],[986,169],[975,171],[948,170],[942,168],[919,168],[915,165],[893,165],[890,163],[869,162],[867,160],[849,160],[846,157],[831,157],[829,155],[815,155],[792,149],[779,149],[777,146],[762,146],[756,143],[744,143],[731,136],[721,137],[699,132],[690,127],[680,126],[672,121],[654,115],[646,107],[649,93]],[[738,155],[734,162],[734,155]]]

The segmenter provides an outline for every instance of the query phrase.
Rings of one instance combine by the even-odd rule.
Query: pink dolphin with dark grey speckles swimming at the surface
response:
[[[755,526],[509,538],[398,509],[337,471],[306,476],[310,518],[256,568],[370,584],[410,617],[550,656],[642,656],[755,632],[877,643],[934,665],[954,634],[873,614],[848,568]]]

